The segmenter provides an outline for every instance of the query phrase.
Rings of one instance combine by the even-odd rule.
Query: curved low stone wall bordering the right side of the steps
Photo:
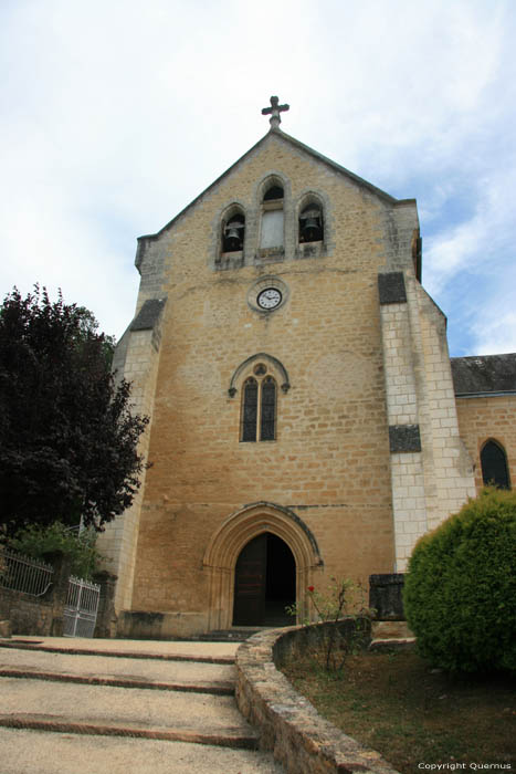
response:
[[[368,750],[320,718],[276,669],[287,655],[320,640],[328,624],[270,629],[251,637],[236,652],[236,703],[261,731],[261,745],[274,752],[289,774],[397,774]]]

